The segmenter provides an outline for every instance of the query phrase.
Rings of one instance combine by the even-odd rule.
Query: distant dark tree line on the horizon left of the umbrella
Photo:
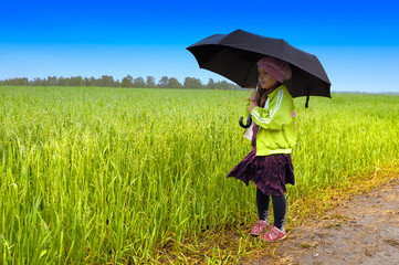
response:
[[[114,80],[111,75],[103,75],[99,78],[72,76],[56,77],[48,76],[46,78],[15,77],[0,81],[0,85],[9,86],[105,86],[105,87],[137,87],[137,88],[187,88],[187,89],[238,89],[240,86],[225,81],[214,82],[209,78],[207,84],[202,84],[199,78],[186,77],[181,84],[175,77],[162,76],[156,82],[154,76],[141,76],[134,78],[132,75],[125,76],[122,81]]]

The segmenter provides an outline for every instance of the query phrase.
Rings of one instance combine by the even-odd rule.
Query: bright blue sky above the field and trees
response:
[[[221,81],[186,47],[237,29],[315,54],[333,91],[399,92],[396,1],[0,0],[0,80],[153,75]]]

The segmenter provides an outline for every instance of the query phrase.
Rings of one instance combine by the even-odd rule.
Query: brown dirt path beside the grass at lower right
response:
[[[259,264],[399,264],[399,180],[288,233]]]

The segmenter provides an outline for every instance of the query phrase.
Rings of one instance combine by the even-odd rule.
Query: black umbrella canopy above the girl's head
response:
[[[292,77],[284,84],[292,97],[330,97],[330,82],[318,59],[282,39],[237,30],[230,34],[211,35],[187,50],[201,68],[218,73],[241,87],[256,86],[259,60],[265,55],[277,57],[290,63]]]

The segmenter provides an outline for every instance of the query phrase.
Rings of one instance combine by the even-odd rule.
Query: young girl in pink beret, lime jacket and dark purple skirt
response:
[[[295,184],[290,153],[296,142],[294,102],[282,83],[291,77],[290,64],[265,56],[258,62],[260,91],[252,93],[248,112],[252,115],[252,150],[228,177],[256,186],[259,221],[251,235],[267,242],[285,237],[285,184]],[[269,229],[272,198],[274,224]]]

